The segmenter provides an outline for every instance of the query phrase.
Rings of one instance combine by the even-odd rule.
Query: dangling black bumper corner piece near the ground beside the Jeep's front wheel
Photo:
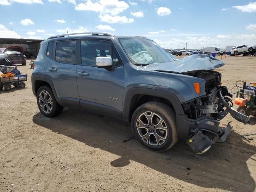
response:
[[[212,146],[212,140],[198,129],[192,130],[192,132],[194,132],[194,136],[187,140],[188,146],[190,146],[196,154],[203,154],[208,151]]]

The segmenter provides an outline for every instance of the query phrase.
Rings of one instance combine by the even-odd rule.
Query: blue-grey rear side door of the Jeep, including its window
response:
[[[46,79],[53,83],[56,94],[63,105],[79,107],[76,85],[77,41],[66,40],[50,43],[46,54],[51,55],[49,46],[53,46],[53,52],[52,59],[46,68]]]

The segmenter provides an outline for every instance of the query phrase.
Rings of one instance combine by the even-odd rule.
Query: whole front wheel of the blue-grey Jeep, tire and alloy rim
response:
[[[132,115],[132,130],[142,146],[155,151],[166,151],[178,141],[176,114],[162,102],[148,102]]]

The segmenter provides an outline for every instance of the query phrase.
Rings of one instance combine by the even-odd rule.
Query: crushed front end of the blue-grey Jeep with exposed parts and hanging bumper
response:
[[[220,120],[228,113],[236,120],[247,124],[250,118],[232,108],[232,94],[221,86],[221,74],[213,70],[200,70],[184,73],[206,80],[206,95],[182,103],[185,121],[189,127],[187,144],[197,154],[210,149],[216,142],[224,142],[232,129],[230,123],[226,128],[219,127]]]

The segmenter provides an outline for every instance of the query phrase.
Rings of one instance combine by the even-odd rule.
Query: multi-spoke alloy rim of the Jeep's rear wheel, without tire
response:
[[[50,94],[46,90],[43,90],[40,92],[38,99],[40,108],[45,113],[50,113],[52,111],[52,97],[50,96]]]

